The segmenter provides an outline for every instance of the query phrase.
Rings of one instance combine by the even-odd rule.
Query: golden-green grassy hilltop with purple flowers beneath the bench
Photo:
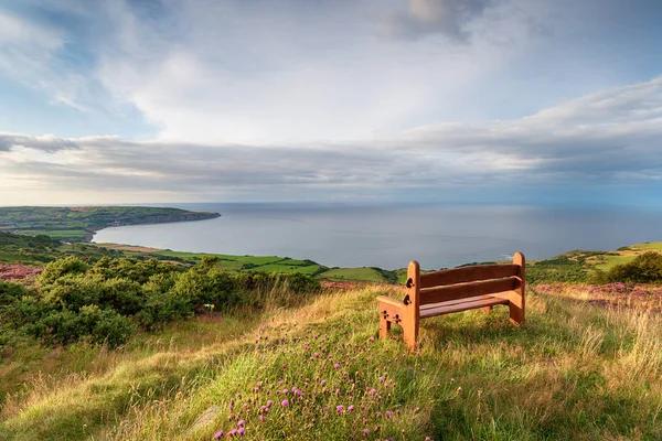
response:
[[[373,341],[381,293],[401,295],[332,292],[35,356],[0,439],[211,440],[239,420],[258,440],[662,438],[659,314],[530,289],[523,326],[500,306],[429,319],[408,353],[397,332]]]

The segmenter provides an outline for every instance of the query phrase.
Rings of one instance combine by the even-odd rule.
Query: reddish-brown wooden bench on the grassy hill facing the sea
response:
[[[407,269],[407,292],[402,302],[380,295],[380,337],[391,324],[403,327],[405,343],[416,348],[420,319],[508,304],[510,320],[524,321],[524,255],[515,252],[512,265],[479,265],[420,273],[416,260]]]

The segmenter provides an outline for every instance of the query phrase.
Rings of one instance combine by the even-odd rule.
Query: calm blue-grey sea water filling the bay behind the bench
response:
[[[161,205],[162,206],[162,205]],[[94,241],[179,251],[276,255],[329,267],[402,268],[412,259],[436,269],[528,259],[572,249],[608,250],[662,240],[662,209],[537,206],[412,206],[340,204],[171,204],[212,211],[210,220],[126,226]]]

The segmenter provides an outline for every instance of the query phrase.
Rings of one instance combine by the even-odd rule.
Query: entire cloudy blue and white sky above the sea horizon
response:
[[[662,207],[659,0],[0,0],[0,205]]]

